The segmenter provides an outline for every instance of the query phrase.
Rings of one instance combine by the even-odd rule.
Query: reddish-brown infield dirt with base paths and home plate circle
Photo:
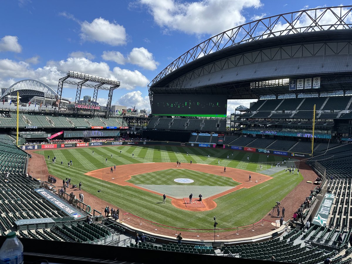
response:
[[[167,170],[167,169],[188,169],[188,170],[201,171],[209,174],[229,177],[229,178],[232,178],[234,181],[240,183],[238,186],[234,188],[231,188],[229,190],[223,191],[221,193],[218,193],[206,199],[203,199],[202,206],[189,206],[184,203],[183,199],[176,199],[175,197],[168,196],[168,198],[172,199],[171,204],[173,206],[183,210],[189,210],[189,211],[212,210],[216,207],[216,203],[214,201],[216,198],[232,193],[233,191],[239,190],[241,188],[251,188],[253,186],[256,186],[257,184],[260,184],[272,179],[272,177],[267,175],[259,174],[257,172],[249,172],[241,169],[226,168],[226,173],[224,173],[222,166],[208,165],[208,164],[186,164],[184,166],[177,167],[175,163],[171,163],[171,162],[137,163],[137,164],[120,165],[116,167],[115,173],[111,173],[110,167],[108,167],[108,168],[87,172],[85,173],[85,175],[97,178],[99,180],[105,180],[111,183],[115,183],[120,186],[131,186],[134,188],[138,188],[141,190],[149,191],[151,193],[160,195],[161,193],[143,188],[142,186],[137,186],[127,181],[130,180],[131,176],[133,175],[144,174],[144,173],[154,172],[159,170]],[[251,174],[251,181],[249,181],[249,174]]]

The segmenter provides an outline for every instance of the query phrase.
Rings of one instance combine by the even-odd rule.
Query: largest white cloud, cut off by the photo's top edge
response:
[[[188,34],[218,34],[244,24],[244,8],[262,6],[260,0],[139,0],[161,27]]]

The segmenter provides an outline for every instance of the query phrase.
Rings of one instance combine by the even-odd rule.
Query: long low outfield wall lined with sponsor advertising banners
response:
[[[38,149],[61,149],[67,147],[93,147],[93,146],[119,146],[119,145],[131,145],[131,146],[146,146],[146,145],[169,145],[169,146],[188,146],[188,147],[212,147],[216,148],[216,144],[210,143],[181,143],[181,142],[170,142],[170,141],[108,141],[108,142],[81,142],[81,143],[58,143],[58,144],[38,144],[38,145],[21,145],[18,146],[21,150],[38,150]],[[254,147],[241,147],[223,145],[223,149],[230,150],[241,150],[246,152],[257,152],[262,154],[278,155],[284,157],[295,157],[295,158],[310,158],[311,154],[297,153],[290,151],[281,150],[267,150],[267,149],[256,149]]]

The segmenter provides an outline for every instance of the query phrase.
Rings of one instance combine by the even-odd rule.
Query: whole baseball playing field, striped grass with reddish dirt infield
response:
[[[77,147],[36,153],[43,155],[52,175],[70,177],[73,184],[82,182],[84,191],[99,197],[101,208],[97,210],[102,211],[109,202],[144,219],[184,228],[212,228],[214,216],[219,228],[257,222],[303,180],[297,170],[289,174],[283,167],[276,168],[283,157],[255,152],[158,145]],[[181,166],[176,166],[177,161]],[[286,165],[298,168],[299,162],[295,161],[290,159]],[[111,172],[114,165],[116,171]],[[163,193],[166,203],[162,203]],[[196,203],[202,193],[202,208],[184,203],[183,198],[188,199],[190,193]],[[89,204],[89,200],[84,202]]]

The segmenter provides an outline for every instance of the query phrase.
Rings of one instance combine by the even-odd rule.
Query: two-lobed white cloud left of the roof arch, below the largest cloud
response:
[[[105,61],[113,61],[118,64],[131,63],[146,70],[155,70],[159,65],[159,62],[154,60],[153,54],[144,47],[133,48],[127,57],[119,51],[103,51],[101,57]]]

